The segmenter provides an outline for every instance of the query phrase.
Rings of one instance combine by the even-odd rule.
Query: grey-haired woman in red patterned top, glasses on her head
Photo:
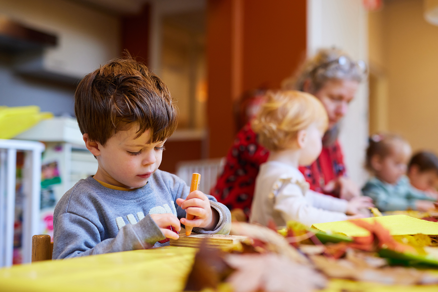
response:
[[[311,190],[346,200],[360,195],[357,185],[346,176],[338,134],[339,121],[347,113],[365,73],[363,61],[355,62],[339,49],[320,49],[296,75],[282,83],[283,89],[316,96],[329,116],[329,130],[323,138],[321,155],[312,165],[300,167]],[[242,209],[248,216],[259,165],[266,162],[268,155],[268,150],[258,144],[256,134],[247,123],[237,133],[226,156],[223,173],[211,194],[230,210]]]

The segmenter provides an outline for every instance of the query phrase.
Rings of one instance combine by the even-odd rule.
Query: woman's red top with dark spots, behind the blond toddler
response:
[[[226,164],[218,177],[216,186],[210,192],[230,210],[240,208],[249,215],[254,195],[255,178],[259,166],[268,160],[269,151],[257,142],[257,135],[246,124],[237,133],[233,146],[226,155]],[[321,155],[310,166],[300,166],[311,190],[320,193],[332,179],[345,175],[342,150],[338,141],[329,147],[323,147]],[[330,195],[337,197],[336,194]]]

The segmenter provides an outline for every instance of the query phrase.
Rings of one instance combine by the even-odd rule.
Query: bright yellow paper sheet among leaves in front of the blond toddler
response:
[[[391,235],[413,235],[413,234],[426,234],[426,235],[438,235],[438,223],[429,222],[417,218],[413,218],[406,215],[391,215],[382,217],[371,217],[360,219],[369,223],[374,221],[379,222],[383,227],[389,230]],[[346,236],[369,236],[370,232],[359,227],[349,220],[318,223],[312,225],[312,227],[324,231],[324,232],[337,232],[343,233]]]

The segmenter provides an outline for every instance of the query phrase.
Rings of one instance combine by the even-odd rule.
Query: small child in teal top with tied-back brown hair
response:
[[[380,211],[427,211],[434,208],[435,199],[413,188],[404,176],[410,155],[410,145],[402,137],[394,134],[371,136],[366,166],[374,176],[362,192],[374,200]]]

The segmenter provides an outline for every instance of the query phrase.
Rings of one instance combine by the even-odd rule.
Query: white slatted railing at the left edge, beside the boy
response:
[[[12,265],[14,250],[14,212],[17,151],[25,151],[23,169],[23,263],[32,259],[32,236],[39,230],[41,197],[40,142],[0,139],[0,267]]]

